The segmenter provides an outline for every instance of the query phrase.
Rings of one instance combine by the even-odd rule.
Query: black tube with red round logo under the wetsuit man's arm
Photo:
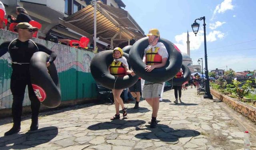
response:
[[[55,108],[60,105],[60,84],[54,63],[48,68],[46,62],[49,55],[45,52],[35,52],[30,59],[30,78],[38,100],[46,107]]]

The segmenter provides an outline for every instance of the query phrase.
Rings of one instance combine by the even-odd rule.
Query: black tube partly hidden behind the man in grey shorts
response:
[[[183,77],[182,78],[172,78],[168,82],[172,84],[173,86],[182,86],[184,82],[190,80],[191,72],[188,66],[182,64],[181,65],[182,72],[183,72]]]

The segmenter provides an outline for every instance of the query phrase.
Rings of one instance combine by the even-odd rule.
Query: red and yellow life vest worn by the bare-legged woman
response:
[[[126,71],[124,69],[124,66],[122,65],[122,62],[118,61],[117,63],[115,61],[112,62],[112,64],[109,65],[110,74],[113,76],[125,76]]]

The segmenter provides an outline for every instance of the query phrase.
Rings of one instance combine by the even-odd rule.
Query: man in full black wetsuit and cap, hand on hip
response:
[[[37,99],[30,81],[29,62],[35,52],[42,51],[50,55],[46,62],[47,67],[55,60],[57,54],[46,48],[42,44],[34,43],[30,38],[38,28],[32,27],[27,22],[21,22],[16,26],[18,38],[12,42],[4,42],[0,45],[0,56],[6,52],[10,53],[12,58],[12,76],[10,88],[13,95],[12,117],[13,126],[4,135],[11,135],[20,131],[20,122],[22,114],[22,102],[24,99],[25,88],[28,85],[28,96],[31,101],[32,123],[30,131],[38,129],[38,114],[40,102]]]

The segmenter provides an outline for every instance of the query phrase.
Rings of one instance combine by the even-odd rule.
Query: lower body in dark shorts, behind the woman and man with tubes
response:
[[[141,92],[141,78],[129,88],[132,97],[136,99],[135,106],[133,109],[139,109],[139,102],[140,102],[140,92]]]

